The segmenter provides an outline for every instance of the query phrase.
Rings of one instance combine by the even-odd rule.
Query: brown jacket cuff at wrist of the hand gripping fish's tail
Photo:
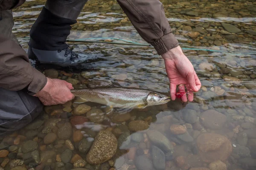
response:
[[[45,77],[45,75],[43,73],[41,73],[37,69],[35,69],[35,68],[33,68],[33,69],[34,69],[34,71],[33,71],[34,76],[32,78],[32,81],[29,84],[28,91],[31,91],[33,93],[38,93],[46,85],[47,78]]]

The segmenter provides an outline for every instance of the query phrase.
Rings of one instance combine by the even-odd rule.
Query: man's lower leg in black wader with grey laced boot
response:
[[[30,30],[28,56],[41,64],[61,67],[93,59],[77,54],[66,44],[71,25],[76,23],[87,0],[47,0]]]

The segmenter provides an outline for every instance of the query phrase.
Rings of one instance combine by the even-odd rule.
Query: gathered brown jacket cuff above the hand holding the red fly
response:
[[[166,34],[150,44],[154,46],[158,55],[162,55],[168,50],[179,46],[178,40],[172,33]]]

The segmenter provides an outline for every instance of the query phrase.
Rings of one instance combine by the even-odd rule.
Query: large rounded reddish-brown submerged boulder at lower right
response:
[[[197,138],[201,159],[205,162],[226,161],[232,152],[232,144],[227,137],[216,133],[202,133]]]

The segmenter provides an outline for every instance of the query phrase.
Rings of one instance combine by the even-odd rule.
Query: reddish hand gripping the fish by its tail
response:
[[[74,89],[72,84],[60,79],[49,79],[44,88],[34,96],[37,96],[44,105],[64,104],[74,99],[70,90]]]

